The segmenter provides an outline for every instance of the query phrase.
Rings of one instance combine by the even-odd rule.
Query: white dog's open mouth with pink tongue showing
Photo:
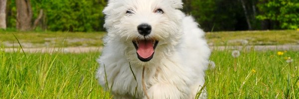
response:
[[[154,49],[159,43],[157,40],[137,40],[132,42],[137,50],[138,59],[144,62],[149,61],[153,57]]]

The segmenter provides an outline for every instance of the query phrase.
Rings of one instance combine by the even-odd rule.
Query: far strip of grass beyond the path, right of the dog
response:
[[[208,43],[215,46],[240,46],[246,40],[249,45],[299,44],[299,31],[234,31],[207,33]]]

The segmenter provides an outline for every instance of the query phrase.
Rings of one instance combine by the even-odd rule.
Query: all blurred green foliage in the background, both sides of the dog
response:
[[[243,0],[253,30],[298,29],[299,0]],[[248,30],[241,0],[183,0],[204,31]],[[35,30],[104,31],[103,8],[107,0],[31,0],[33,21],[44,10]],[[7,27],[16,23],[15,0],[7,1]]]

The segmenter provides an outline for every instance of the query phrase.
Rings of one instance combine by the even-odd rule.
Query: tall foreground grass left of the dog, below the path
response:
[[[0,99],[110,99],[95,79],[99,53],[26,56],[0,49]]]

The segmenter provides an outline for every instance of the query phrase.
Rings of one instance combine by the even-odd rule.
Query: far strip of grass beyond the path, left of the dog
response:
[[[104,32],[1,32],[0,42],[9,44],[10,48],[17,46],[13,34],[25,48],[38,47],[99,47],[102,46]],[[14,44],[14,45],[13,45]]]

